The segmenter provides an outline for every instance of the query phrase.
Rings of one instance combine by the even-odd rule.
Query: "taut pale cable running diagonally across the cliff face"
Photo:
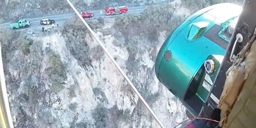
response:
[[[148,106],[147,102],[144,100],[144,98],[140,95],[140,93],[138,92],[138,90],[135,88],[135,86],[132,84],[132,82],[130,81],[130,79],[126,76],[126,74],[124,73],[124,71],[122,70],[122,68],[117,64],[116,60],[114,60],[114,58],[110,55],[110,53],[108,52],[108,50],[103,46],[102,42],[100,41],[100,39],[98,38],[98,36],[96,36],[96,34],[94,33],[94,31],[92,30],[92,28],[90,28],[90,26],[87,24],[87,22],[84,20],[84,18],[82,18],[82,16],[79,14],[79,12],[76,10],[76,8],[74,7],[74,5],[70,2],[70,0],[67,0],[68,4],[71,6],[71,8],[76,12],[76,16],[78,16],[82,22],[84,23],[84,25],[88,28],[88,30],[90,31],[90,33],[92,34],[92,36],[94,36],[94,38],[97,40],[98,44],[101,46],[101,48],[104,50],[104,52],[106,52],[106,54],[108,55],[108,57],[110,58],[110,60],[112,60],[112,62],[115,64],[116,68],[118,68],[118,70],[122,73],[122,75],[124,76],[124,78],[127,80],[127,82],[130,84],[130,86],[132,87],[132,89],[136,92],[136,94],[139,96],[140,100],[144,103],[144,105],[146,106],[146,108],[148,108],[149,112],[153,115],[153,117],[156,119],[156,121],[158,122],[158,124],[164,128],[164,125],[160,122],[160,120],[158,119],[158,117],[156,116],[156,114],[153,112],[153,110],[150,108],[150,106]]]

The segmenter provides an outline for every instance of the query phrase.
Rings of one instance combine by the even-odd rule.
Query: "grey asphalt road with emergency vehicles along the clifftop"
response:
[[[161,4],[166,4],[166,3],[161,3]],[[143,10],[146,8],[146,6],[137,6],[137,7],[128,7],[128,14],[133,14],[133,13],[141,13],[143,12]],[[102,18],[112,18],[112,17],[116,17],[117,15],[114,16],[106,16],[105,15],[105,10],[92,10],[92,11],[88,11],[88,12],[92,12],[94,14],[94,17],[92,18],[85,18],[85,20],[94,20],[94,19],[98,19],[100,17]],[[66,20],[68,20],[69,17],[74,16],[74,13],[70,13],[70,14],[59,14],[59,15],[53,15],[53,16],[45,16],[45,17],[40,17],[40,18],[32,18],[32,19],[27,19],[30,20],[31,22],[31,26],[39,26],[40,24],[40,20],[44,19],[44,18],[49,18],[49,19],[53,19],[55,20],[55,22],[64,22]],[[10,23],[4,23],[4,24],[0,24],[0,29],[10,29]],[[21,28],[18,28],[21,29]]]

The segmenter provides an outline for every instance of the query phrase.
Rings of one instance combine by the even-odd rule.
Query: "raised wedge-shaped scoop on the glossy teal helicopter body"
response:
[[[196,22],[196,23],[192,23],[190,24],[190,30],[188,32],[188,40],[194,40],[196,39],[198,36],[200,36],[200,34],[202,34],[202,32],[204,32],[204,30],[206,30],[207,26],[210,23],[207,21],[201,21],[201,22]]]

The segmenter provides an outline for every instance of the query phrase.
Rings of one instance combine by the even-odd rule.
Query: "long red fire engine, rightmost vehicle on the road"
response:
[[[105,8],[106,15],[122,14],[122,13],[127,13],[127,12],[128,12],[128,7],[126,7],[126,6],[106,7]]]

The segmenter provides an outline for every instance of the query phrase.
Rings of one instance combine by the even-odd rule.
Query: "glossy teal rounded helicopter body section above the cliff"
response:
[[[172,31],[158,52],[158,80],[193,116],[198,116],[200,104],[205,103],[241,11],[241,6],[231,3],[199,10]],[[208,59],[215,68],[207,73],[204,63]],[[203,80],[206,76],[209,88]]]

